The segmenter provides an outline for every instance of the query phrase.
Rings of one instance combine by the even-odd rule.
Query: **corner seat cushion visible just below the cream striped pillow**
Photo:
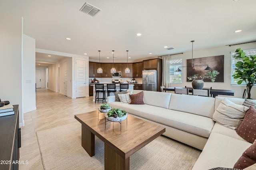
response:
[[[236,138],[236,139],[239,139],[239,140],[242,140],[242,141],[245,141],[247,142],[245,139],[243,139],[241,136],[239,136],[237,133],[236,133],[236,130],[233,130],[231,128],[227,128],[227,127],[224,127],[222,125],[220,125],[218,122],[216,122],[214,124],[214,127],[212,128],[212,132],[215,132],[215,133],[220,133],[220,134],[224,134],[226,136],[230,136],[232,138]]]

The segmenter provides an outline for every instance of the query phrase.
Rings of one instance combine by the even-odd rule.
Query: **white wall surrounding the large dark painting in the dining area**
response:
[[[195,46],[195,45],[194,45]],[[234,97],[241,98],[246,89],[246,86],[240,85],[231,85],[231,51],[235,51],[237,48],[245,49],[253,49],[256,48],[256,43],[246,43],[241,45],[233,45],[229,47],[228,45],[221,47],[213,47],[202,50],[194,50],[193,58],[201,58],[201,57],[211,57],[217,55],[224,55],[224,82],[205,82],[204,87],[212,87],[213,89],[227,89],[234,90]],[[183,54],[172,55],[172,59],[182,58],[182,65],[186,65],[186,59],[192,58],[192,51],[184,52]],[[186,76],[186,68],[182,68],[182,84],[174,84],[172,83],[170,86],[172,87],[191,87],[191,82],[187,82]],[[251,98],[256,99],[256,87],[252,87]]]

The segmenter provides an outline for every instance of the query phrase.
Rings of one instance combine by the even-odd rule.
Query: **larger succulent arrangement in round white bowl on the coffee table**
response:
[[[119,108],[112,108],[106,113],[106,119],[112,122],[124,121],[127,118],[127,112]]]

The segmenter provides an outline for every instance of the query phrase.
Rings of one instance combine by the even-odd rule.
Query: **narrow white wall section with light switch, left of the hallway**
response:
[[[36,110],[36,41],[23,34],[22,108],[23,113]]]

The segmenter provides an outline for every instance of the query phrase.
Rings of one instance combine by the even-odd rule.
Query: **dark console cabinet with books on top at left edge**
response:
[[[0,117],[0,170],[18,170],[21,146],[19,105],[14,115]]]

